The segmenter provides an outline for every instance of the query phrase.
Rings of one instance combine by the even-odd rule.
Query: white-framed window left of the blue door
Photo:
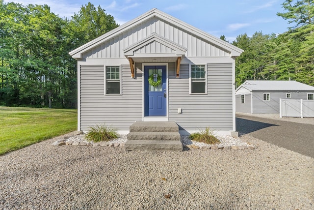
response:
[[[120,67],[106,66],[105,69],[105,94],[120,94]]]

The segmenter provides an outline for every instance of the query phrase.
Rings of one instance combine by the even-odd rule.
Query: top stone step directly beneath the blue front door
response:
[[[179,132],[175,122],[134,122],[130,132]]]

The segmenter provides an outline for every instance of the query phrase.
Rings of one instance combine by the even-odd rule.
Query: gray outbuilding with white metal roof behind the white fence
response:
[[[278,113],[280,99],[313,100],[314,87],[296,81],[247,80],[235,90],[236,112]]]

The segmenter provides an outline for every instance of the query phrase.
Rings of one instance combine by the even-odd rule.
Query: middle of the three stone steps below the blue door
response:
[[[128,141],[154,140],[154,141],[179,141],[180,133],[177,132],[130,132],[127,135]]]

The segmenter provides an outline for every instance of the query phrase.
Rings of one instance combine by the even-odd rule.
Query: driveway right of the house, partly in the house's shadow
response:
[[[236,130],[268,143],[314,158],[313,118],[272,118],[271,115],[236,115]]]

